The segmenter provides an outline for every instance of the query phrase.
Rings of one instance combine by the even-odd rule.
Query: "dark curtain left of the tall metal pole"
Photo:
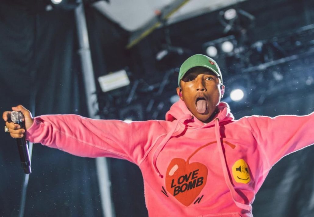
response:
[[[1,111],[22,104],[36,116],[86,116],[74,12],[45,11],[43,2],[1,2]],[[18,216],[24,175],[15,140],[0,137],[0,215]],[[33,147],[24,216],[101,216],[95,160]]]

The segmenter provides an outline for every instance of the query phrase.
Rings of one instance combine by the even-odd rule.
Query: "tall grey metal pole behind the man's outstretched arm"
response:
[[[90,118],[100,119],[99,115],[96,115],[98,103],[97,95],[95,94],[96,93],[95,78],[92,59],[89,50],[88,32],[83,3],[81,3],[75,9],[75,19],[79,43],[78,53],[81,57],[88,113]],[[104,157],[96,158],[96,169],[103,215],[104,217],[113,217],[114,215],[110,191],[111,182],[109,180],[106,158]]]

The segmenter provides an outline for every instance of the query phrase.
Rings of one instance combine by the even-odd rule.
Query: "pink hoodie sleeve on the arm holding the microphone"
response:
[[[77,156],[115,157],[138,164],[164,131],[157,120],[125,123],[73,114],[42,115],[35,117],[26,139]]]

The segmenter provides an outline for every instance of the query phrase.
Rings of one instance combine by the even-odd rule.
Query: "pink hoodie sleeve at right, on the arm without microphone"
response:
[[[285,155],[314,143],[314,112],[305,116],[252,116],[248,121],[270,167]]]

